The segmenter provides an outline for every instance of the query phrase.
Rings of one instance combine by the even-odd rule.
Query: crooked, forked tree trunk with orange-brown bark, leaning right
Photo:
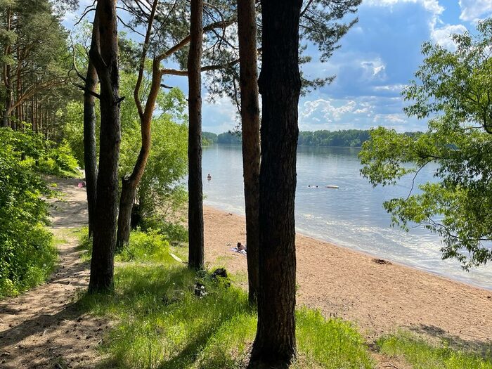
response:
[[[143,42],[143,50],[140,58],[140,67],[138,69],[138,79],[134,89],[134,99],[137,105],[138,115],[140,117],[140,129],[142,144],[140,153],[135,163],[134,170],[128,178],[122,178],[122,195],[119,198],[119,214],[118,214],[118,232],[116,238],[116,247],[118,250],[122,250],[130,240],[130,227],[131,227],[131,209],[134,206],[136,188],[140,183],[143,171],[147,165],[147,160],[150,155],[150,144],[152,142],[150,126],[152,124],[152,116],[155,108],[155,102],[160,91],[160,82],[162,79],[162,73],[160,71],[160,60],[154,59],[152,67],[152,83],[150,86],[147,102],[145,103],[145,111],[142,109],[141,101],[139,97],[140,86],[143,80],[143,72],[145,71],[145,58],[147,56],[147,50],[149,46],[150,36],[152,34],[153,21],[155,12],[157,10],[157,4],[159,0],[154,0],[152,4],[152,11],[148,20],[147,32],[145,34],[145,41]]]

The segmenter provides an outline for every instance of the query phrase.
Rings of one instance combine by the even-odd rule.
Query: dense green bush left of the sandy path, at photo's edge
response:
[[[30,146],[36,139],[10,128],[0,128],[0,137],[0,297],[6,297],[44,281],[57,254],[44,228],[48,212],[41,195],[48,189],[21,160],[22,153],[37,153]]]

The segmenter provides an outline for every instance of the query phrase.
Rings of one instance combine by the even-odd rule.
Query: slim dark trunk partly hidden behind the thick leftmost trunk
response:
[[[94,15],[91,48],[99,50],[99,25]],[[91,60],[87,65],[84,91],[84,167],[86,173],[87,210],[89,212],[89,237],[96,226],[96,187],[98,167],[96,159],[96,97],[98,74]],[[92,93],[91,93],[92,92]]]

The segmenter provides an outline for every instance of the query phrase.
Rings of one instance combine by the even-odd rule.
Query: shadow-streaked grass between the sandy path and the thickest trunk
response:
[[[229,339],[244,337],[246,342],[254,335],[254,314],[245,293],[200,278],[207,294],[196,297],[195,273],[174,263],[119,267],[115,294],[81,300],[86,309],[117,321],[103,348],[112,363],[103,366],[234,368],[231,361],[245,356],[246,344],[241,348]],[[230,349],[239,355],[229,354]]]

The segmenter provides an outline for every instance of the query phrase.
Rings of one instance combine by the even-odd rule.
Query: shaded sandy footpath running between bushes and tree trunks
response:
[[[51,179],[65,193],[52,199],[53,233],[60,266],[48,283],[0,302],[0,368],[93,368],[101,355],[95,347],[105,322],[81,314],[73,303],[86,287],[88,266],[82,264],[77,238],[64,229],[86,224],[86,193],[77,179]]]

